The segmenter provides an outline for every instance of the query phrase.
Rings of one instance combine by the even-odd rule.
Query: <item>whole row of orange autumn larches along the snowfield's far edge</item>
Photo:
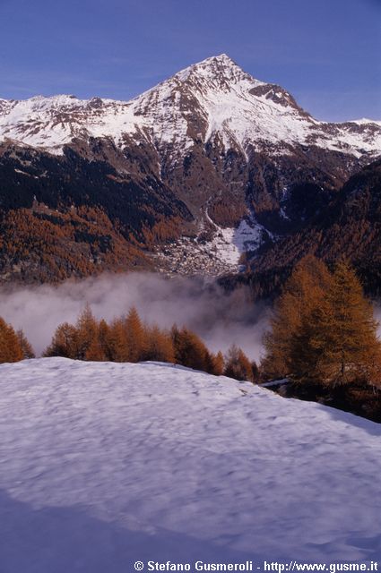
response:
[[[0,362],[32,356],[22,331],[0,319]],[[226,355],[213,354],[191,329],[144,323],[135,308],[107,322],[86,306],[75,324],[57,327],[44,356],[178,363],[255,382],[288,379],[294,396],[310,399],[343,400],[350,389],[358,402],[362,393],[381,413],[381,343],[373,306],[348,263],[330,270],[313,255],[295,266],[273,306],[259,367],[237,346]]]

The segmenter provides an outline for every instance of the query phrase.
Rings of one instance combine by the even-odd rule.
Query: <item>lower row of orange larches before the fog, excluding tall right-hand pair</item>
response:
[[[1,325],[4,329],[1,330]],[[34,357],[22,331],[0,322],[0,362],[16,362]],[[23,350],[22,350],[23,348]],[[29,349],[27,351],[27,348]],[[226,355],[213,354],[195,332],[186,327],[160,329],[144,323],[132,307],[126,315],[111,322],[98,321],[86,305],[75,324],[60,324],[43,356],[63,356],[74,360],[100,362],[158,361],[177,363],[217,376],[256,381],[258,369],[238,346],[232,345]]]

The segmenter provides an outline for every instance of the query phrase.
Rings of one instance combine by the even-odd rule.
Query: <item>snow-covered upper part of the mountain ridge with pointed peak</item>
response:
[[[298,143],[360,157],[381,152],[381,125],[316,121],[281,87],[255,80],[229,56],[192,65],[129,102],[74,96],[0,100],[0,141],[10,139],[62,153],[74,138],[126,136],[168,146],[184,156],[197,140],[221,141],[247,155],[255,148],[290,153]],[[168,150],[167,150],[168,152]]]

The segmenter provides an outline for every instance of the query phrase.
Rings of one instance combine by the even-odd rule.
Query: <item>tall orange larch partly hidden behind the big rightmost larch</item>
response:
[[[312,255],[296,265],[274,306],[270,330],[264,335],[265,355],[261,362],[264,378],[284,378],[290,374],[293,338],[304,317],[323,301],[331,280],[325,263]]]

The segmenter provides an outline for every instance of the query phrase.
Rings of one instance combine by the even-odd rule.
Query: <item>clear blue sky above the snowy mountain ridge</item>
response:
[[[381,0],[0,0],[0,97],[128,99],[227,53],[319,119],[381,119]]]

